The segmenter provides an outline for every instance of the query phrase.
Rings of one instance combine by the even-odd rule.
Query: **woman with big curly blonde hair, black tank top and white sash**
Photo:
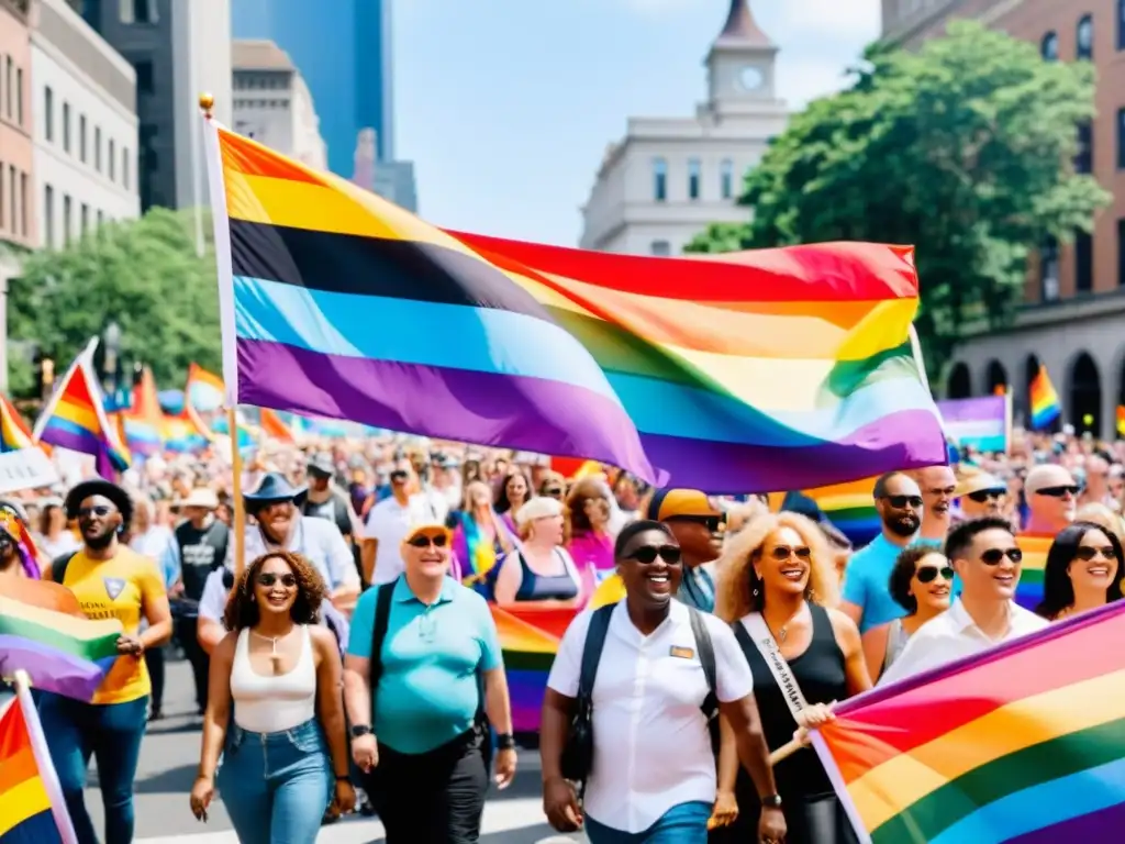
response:
[[[754,697],[771,751],[789,744],[799,727],[828,720],[829,707],[871,688],[860,631],[832,609],[838,584],[831,550],[820,529],[796,513],[759,515],[736,536],[719,563],[716,614],[730,622],[754,674]],[[791,702],[763,656],[776,643],[802,700]],[[762,650],[759,650],[759,647]],[[788,844],[843,844],[855,833],[817,754],[803,747],[774,765]],[[734,736],[723,728],[719,791],[737,800],[729,841],[755,841],[760,806],[738,764]],[[717,807],[718,819],[723,819]],[[729,817],[729,815],[727,815]]]

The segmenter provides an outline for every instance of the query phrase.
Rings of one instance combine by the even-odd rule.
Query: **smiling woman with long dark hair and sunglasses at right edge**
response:
[[[1043,600],[1035,611],[1048,621],[1122,599],[1122,544],[1100,524],[1078,521],[1055,537],[1043,571]]]

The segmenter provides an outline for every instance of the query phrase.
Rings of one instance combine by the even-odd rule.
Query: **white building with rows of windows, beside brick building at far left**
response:
[[[32,14],[36,245],[141,213],[136,74],[65,0]]]

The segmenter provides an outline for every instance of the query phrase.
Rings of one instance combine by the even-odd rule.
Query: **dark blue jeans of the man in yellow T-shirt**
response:
[[[104,704],[82,703],[58,694],[40,697],[39,719],[79,844],[98,844],[82,799],[90,756],[98,764],[106,844],[133,841],[133,780],[147,718],[148,695]]]

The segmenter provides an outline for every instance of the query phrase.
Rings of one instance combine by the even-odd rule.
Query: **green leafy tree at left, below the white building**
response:
[[[104,225],[57,251],[29,257],[9,290],[8,335],[54,358],[61,375],[92,336],[116,321],[122,359],[152,367],[156,383],[181,386],[188,365],[220,365],[218,289],[210,221],[206,254],[196,248],[195,213],[158,208]],[[12,392],[28,389],[12,379]],[[36,388],[30,385],[30,390]]]

